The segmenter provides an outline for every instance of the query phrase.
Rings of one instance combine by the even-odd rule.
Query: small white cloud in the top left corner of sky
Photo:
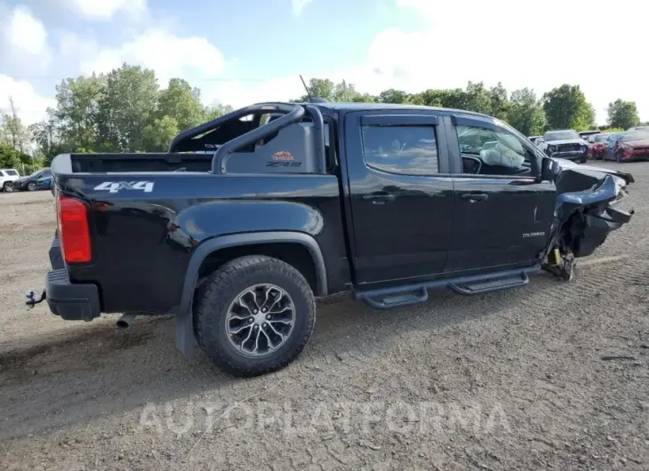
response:
[[[43,23],[22,5],[13,8],[8,15],[6,23],[3,21],[5,52],[13,60],[36,60],[38,65],[46,66],[51,60],[51,52],[47,46],[47,31]]]

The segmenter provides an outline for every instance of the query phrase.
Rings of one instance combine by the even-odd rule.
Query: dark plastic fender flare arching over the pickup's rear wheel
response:
[[[272,231],[272,232],[246,232],[244,234],[220,235],[206,240],[198,245],[189,259],[185,281],[182,285],[182,297],[180,299],[180,315],[191,313],[191,303],[194,297],[194,289],[198,281],[198,269],[205,258],[214,251],[227,249],[242,245],[253,245],[256,243],[300,243],[311,255],[314,267],[316,267],[317,295],[327,294],[327,275],[324,267],[324,257],[320,246],[311,235],[301,232]]]

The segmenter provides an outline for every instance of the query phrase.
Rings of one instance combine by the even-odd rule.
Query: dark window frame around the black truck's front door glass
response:
[[[521,134],[517,132],[514,128],[508,124],[502,123],[501,121],[495,118],[481,118],[479,116],[461,116],[461,115],[452,115],[451,119],[447,123],[449,130],[449,150],[453,154],[453,165],[452,165],[452,176],[454,178],[472,178],[472,179],[491,179],[491,180],[536,180],[541,172],[541,159],[544,156],[541,155],[541,150],[536,148]],[[478,127],[491,130],[493,132],[505,132],[513,135],[517,140],[519,140],[521,146],[525,148],[534,158],[532,160],[531,175],[485,175],[479,173],[463,173],[462,172],[462,156],[460,148],[460,138],[457,132],[457,126],[470,126]],[[532,146],[530,146],[532,144]]]

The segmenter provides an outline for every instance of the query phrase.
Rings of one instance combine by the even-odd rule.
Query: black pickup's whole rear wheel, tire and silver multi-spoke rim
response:
[[[194,314],[198,344],[222,370],[256,376],[291,363],[316,323],[307,280],[266,256],[234,259],[206,283]]]

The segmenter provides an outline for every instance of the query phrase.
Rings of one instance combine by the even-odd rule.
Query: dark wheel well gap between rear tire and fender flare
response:
[[[218,267],[224,263],[228,263],[230,260],[238,259],[246,255],[266,255],[288,263],[306,278],[308,285],[316,295],[320,294],[318,292],[316,266],[314,265],[313,257],[311,257],[311,253],[307,247],[301,243],[253,243],[212,251],[212,253],[205,257],[201,267],[198,269],[196,289]]]

